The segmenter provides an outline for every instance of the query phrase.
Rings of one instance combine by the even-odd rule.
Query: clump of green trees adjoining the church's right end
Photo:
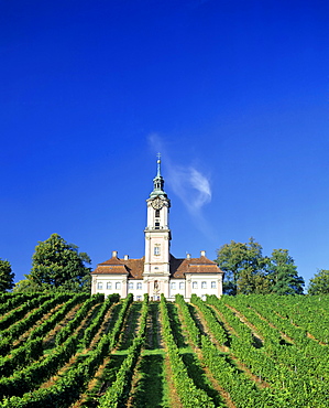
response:
[[[217,264],[226,272],[227,294],[303,293],[304,279],[298,277],[287,249],[274,249],[271,258],[264,257],[262,246],[250,238],[245,244],[232,240],[219,248],[217,255]]]

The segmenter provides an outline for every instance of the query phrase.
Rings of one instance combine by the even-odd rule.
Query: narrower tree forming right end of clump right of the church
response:
[[[267,277],[272,292],[277,294],[303,294],[304,279],[287,249],[274,249],[267,264]]]

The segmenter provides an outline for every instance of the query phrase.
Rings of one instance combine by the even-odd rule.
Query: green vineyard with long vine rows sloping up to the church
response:
[[[329,406],[329,297],[0,298],[0,408]]]

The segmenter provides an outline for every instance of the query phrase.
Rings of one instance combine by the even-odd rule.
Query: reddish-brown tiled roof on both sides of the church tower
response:
[[[117,255],[98,264],[91,275],[127,275],[128,279],[143,279],[144,257],[119,259]],[[171,255],[171,278],[185,279],[186,273],[223,273],[217,264],[205,256],[199,258],[175,258]]]

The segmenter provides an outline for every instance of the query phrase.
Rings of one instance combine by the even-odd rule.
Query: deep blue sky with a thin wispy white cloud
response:
[[[0,258],[57,233],[144,251],[161,151],[172,253],[253,236],[306,281],[329,269],[329,3],[0,3]]]

